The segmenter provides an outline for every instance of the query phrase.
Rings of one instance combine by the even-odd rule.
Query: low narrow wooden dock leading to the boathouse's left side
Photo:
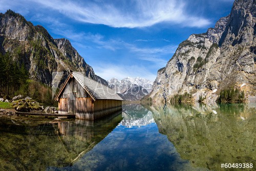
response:
[[[22,115],[22,116],[42,116],[45,118],[48,117],[58,117],[59,119],[68,119],[68,118],[75,118],[76,115],[74,114],[47,114],[47,113],[39,113],[39,112],[15,112],[16,115]]]

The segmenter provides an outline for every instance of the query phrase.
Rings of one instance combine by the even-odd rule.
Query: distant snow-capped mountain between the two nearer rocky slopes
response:
[[[108,80],[109,87],[117,92],[124,100],[140,100],[151,92],[153,81],[145,78],[126,77],[119,81],[116,78]]]

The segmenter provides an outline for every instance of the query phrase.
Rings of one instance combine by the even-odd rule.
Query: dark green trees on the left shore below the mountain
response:
[[[24,63],[13,60],[9,53],[0,53],[0,97],[11,99],[21,94],[39,103],[54,104],[51,88],[29,77]]]

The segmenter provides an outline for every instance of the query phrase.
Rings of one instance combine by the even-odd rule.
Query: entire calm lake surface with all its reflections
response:
[[[255,170],[255,123],[256,104],[126,104],[97,121],[0,116],[0,170]]]

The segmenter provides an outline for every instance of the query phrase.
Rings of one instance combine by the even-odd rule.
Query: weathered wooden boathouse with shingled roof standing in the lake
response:
[[[94,120],[122,109],[123,99],[111,88],[71,71],[55,100],[59,114]]]

